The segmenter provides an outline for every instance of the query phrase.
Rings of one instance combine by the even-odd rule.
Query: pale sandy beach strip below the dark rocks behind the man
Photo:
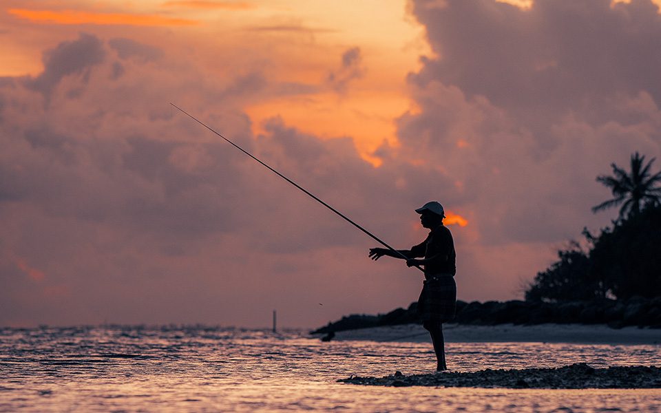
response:
[[[534,326],[467,326],[446,324],[443,326],[448,343],[484,342],[536,342],[536,343],[586,343],[586,344],[651,344],[661,345],[661,330],[625,327],[620,329],[603,325],[538,324]],[[321,337],[321,335],[319,335]],[[430,341],[429,335],[417,324],[384,326],[340,331],[335,340],[357,341]]]

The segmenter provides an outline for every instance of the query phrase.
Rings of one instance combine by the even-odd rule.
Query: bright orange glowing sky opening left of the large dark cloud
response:
[[[393,119],[410,107],[406,74],[417,70],[418,56],[429,52],[422,28],[405,16],[404,0],[360,1],[350,9],[318,0],[64,1],[53,9],[44,5],[48,3],[13,2],[6,12],[16,23],[43,25],[45,30],[54,25],[70,25],[71,32],[93,30],[98,25],[115,25],[118,32],[121,26],[186,30],[195,47],[209,53],[235,47],[237,42],[249,44],[248,53],[270,48],[271,56],[264,59],[277,61],[277,65],[270,67],[269,76],[282,82],[323,86],[331,72],[341,69],[342,52],[359,47],[360,74],[348,81],[350,87],[345,91],[322,87],[303,98],[271,96],[244,109],[255,132],[260,132],[264,119],[280,116],[286,123],[324,138],[351,136],[362,156],[374,165],[380,162],[370,153],[377,146],[384,140],[397,144]],[[277,47],[273,47],[274,41],[279,43]],[[291,47],[282,46],[283,41]],[[41,70],[38,50],[12,42],[4,43],[0,50],[6,56],[0,76]],[[209,70],[222,72],[224,68]]]

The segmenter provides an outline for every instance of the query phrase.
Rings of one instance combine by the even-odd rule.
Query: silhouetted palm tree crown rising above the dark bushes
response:
[[[598,176],[597,182],[610,188],[615,198],[592,207],[592,212],[596,213],[622,204],[620,208],[620,220],[622,220],[640,213],[644,206],[661,205],[661,187],[656,186],[657,182],[661,182],[661,171],[651,176],[649,169],[655,158],[643,167],[644,160],[645,157],[640,156],[638,152],[633,153],[631,174],[613,163],[611,164],[613,176]]]

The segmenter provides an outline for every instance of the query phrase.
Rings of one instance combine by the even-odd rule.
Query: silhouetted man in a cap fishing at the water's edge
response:
[[[408,266],[424,266],[425,280],[418,299],[418,314],[423,327],[432,337],[437,359],[437,371],[448,370],[445,364],[445,341],[443,323],[454,318],[457,307],[457,273],[452,233],[443,226],[445,211],[439,202],[431,201],[415,210],[420,214],[420,223],[430,233],[426,240],[412,246],[410,250],[392,251],[386,248],[370,248],[370,258],[378,260],[384,255],[405,258]],[[421,258],[421,259],[419,259]]]

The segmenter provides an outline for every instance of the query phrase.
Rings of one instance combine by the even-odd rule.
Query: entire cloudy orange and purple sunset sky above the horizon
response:
[[[7,0],[0,326],[313,327],[417,299],[439,200],[458,297],[520,299],[661,156],[661,1]],[[655,164],[658,168],[659,161]]]

